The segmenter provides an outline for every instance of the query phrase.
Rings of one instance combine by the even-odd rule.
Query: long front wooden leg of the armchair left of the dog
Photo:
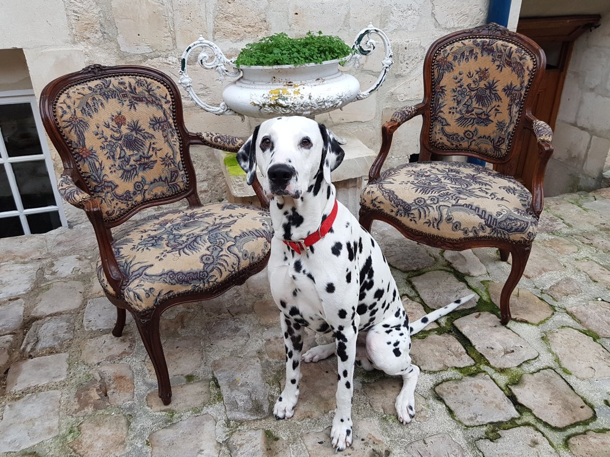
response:
[[[153,311],[149,316],[138,316],[134,313],[134,319],[157,375],[159,398],[163,405],[169,405],[171,402],[170,374],[167,370],[167,363],[165,363],[165,354],[163,354],[161,336],[159,335],[159,314]]]

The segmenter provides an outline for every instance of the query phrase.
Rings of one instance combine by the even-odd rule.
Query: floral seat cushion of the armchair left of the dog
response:
[[[127,278],[124,299],[137,311],[226,285],[264,261],[273,236],[268,211],[235,204],[165,211],[130,225],[113,234],[112,246]],[[97,272],[116,296],[101,261]]]

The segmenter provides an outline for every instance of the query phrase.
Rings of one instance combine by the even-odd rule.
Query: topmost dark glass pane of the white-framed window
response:
[[[32,105],[29,103],[0,105],[0,130],[9,157],[42,154]]]

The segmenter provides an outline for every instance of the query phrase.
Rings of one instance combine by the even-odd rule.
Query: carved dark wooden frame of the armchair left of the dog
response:
[[[91,197],[87,191],[87,185],[85,185],[85,181],[79,173],[76,161],[70,152],[70,147],[68,146],[66,139],[62,136],[55,113],[57,99],[66,88],[86,82],[87,80],[96,80],[101,77],[112,78],[115,76],[145,76],[162,83],[168,89],[171,101],[173,102],[173,111],[177,120],[177,127],[182,139],[181,149],[186,165],[188,183],[185,190],[178,195],[156,199],[151,202],[143,202],[137,207],[132,208],[120,218],[109,222],[104,219],[98,200]],[[161,314],[168,308],[171,308],[171,306],[179,305],[181,303],[209,300],[223,294],[223,292],[226,292],[235,285],[243,284],[248,277],[264,269],[269,260],[269,255],[267,254],[267,256],[258,263],[248,266],[240,272],[239,275],[235,275],[231,279],[226,280],[226,282],[223,282],[217,288],[208,289],[206,292],[202,293],[176,296],[153,308],[138,311],[134,310],[123,299],[123,289],[121,286],[126,278],[118,267],[117,259],[113,253],[113,238],[110,229],[123,224],[123,222],[134,216],[138,211],[152,206],[169,204],[181,199],[187,199],[189,207],[201,207],[201,200],[199,200],[196,188],[195,169],[193,168],[190,156],[190,146],[193,144],[205,145],[222,151],[237,152],[242,146],[243,140],[240,140],[240,138],[235,136],[221,135],[218,133],[188,132],[184,124],[181,94],[176,84],[170,77],[162,72],[143,66],[91,65],[76,73],[59,77],[44,88],[40,97],[40,113],[46,132],[62,158],[63,174],[60,179],[63,180],[63,183],[67,182],[68,185],[76,186],[78,188],[77,190],[75,189],[76,191],[80,190],[87,194],[86,196],[82,196],[81,194],[83,198],[82,201],[79,202],[79,207],[87,213],[87,217],[91,222],[91,225],[93,225],[93,230],[98,241],[102,269],[106,275],[107,281],[114,291],[121,291],[117,292],[117,297],[106,294],[110,302],[117,306],[117,322],[112,330],[112,335],[120,337],[123,334],[126,311],[129,311],[129,313],[134,316],[135,324],[142,337],[146,352],[148,352],[152,365],[154,366],[159,384],[159,397],[165,405],[168,405],[171,401],[171,384],[159,334],[159,319]],[[268,208],[268,200],[264,196],[262,186],[260,186],[260,183],[256,179],[254,180],[253,188],[262,207]]]

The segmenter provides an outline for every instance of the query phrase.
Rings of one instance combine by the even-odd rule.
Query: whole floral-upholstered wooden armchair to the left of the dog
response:
[[[63,161],[59,191],[85,210],[99,244],[97,275],[117,306],[113,335],[134,316],[159,384],[171,400],[159,317],[170,306],[207,300],[265,267],[272,236],[268,211],[201,205],[192,144],[237,152],[239,138],[190,133],[178,88],[138,66],[88,66],[49,83],[40,112]],[[258,182],[254,188],[265,205]],[[184,209],[139,211],[186,199]],[[127,223],[126,223],[127,222]]]

